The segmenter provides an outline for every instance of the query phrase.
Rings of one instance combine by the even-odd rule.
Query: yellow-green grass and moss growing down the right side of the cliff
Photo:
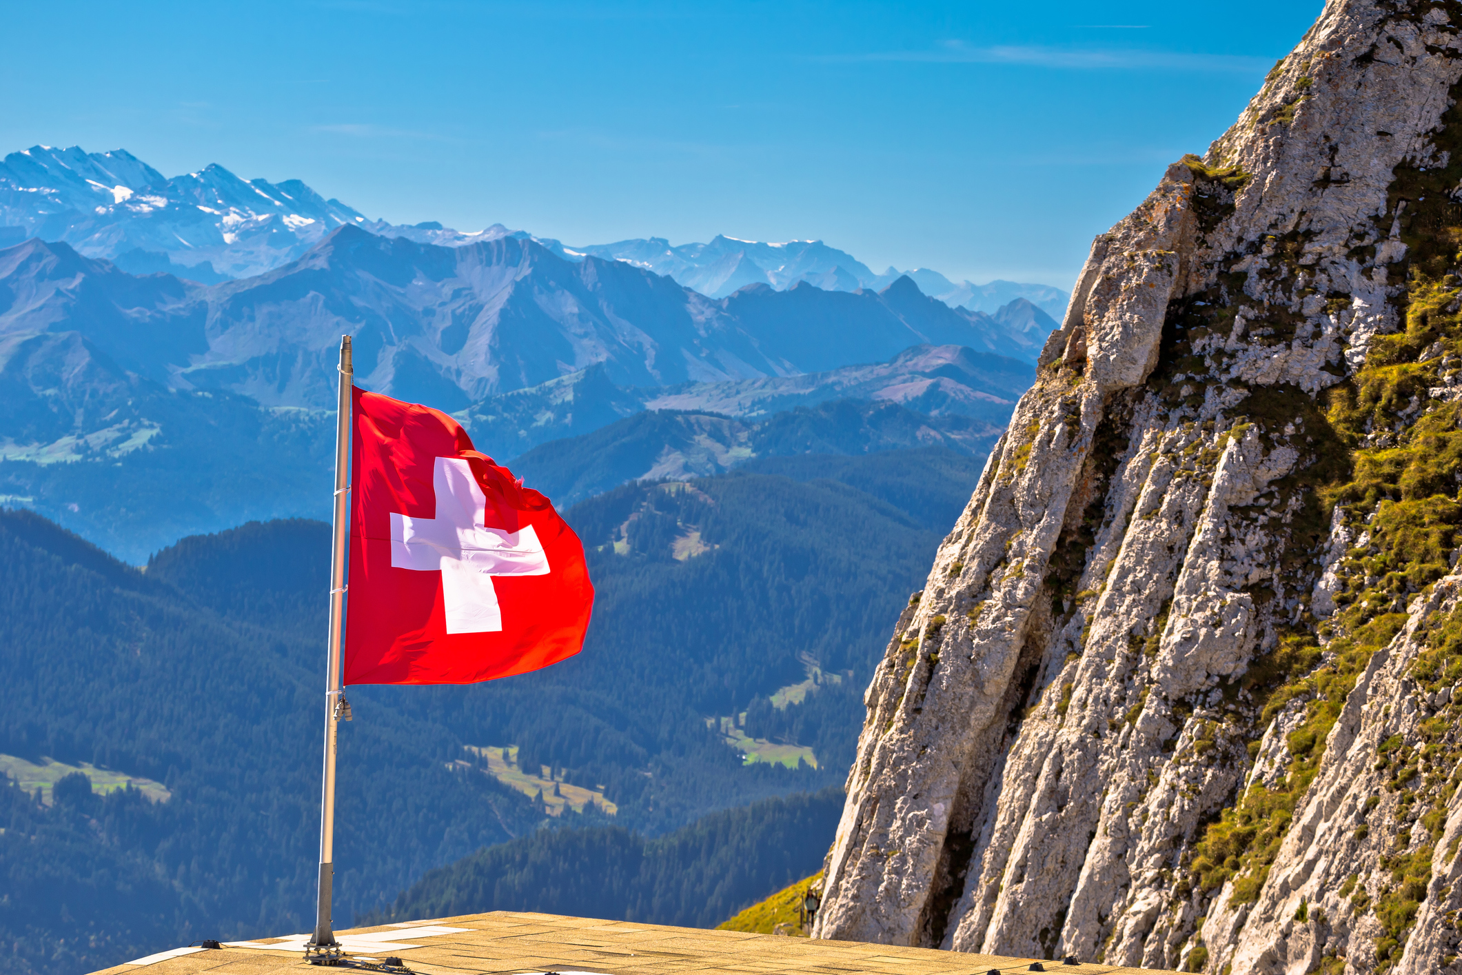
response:
[[[1456,92],[1453,92],[1456,95]],[[1405,284],[1404,329],[1371,338],[1364,365],[1325,396],[1322,424],[1307,424],[1314,437],[1344,446],[1344,477],[1311,475],[1322,510],[1335,510],[1352,538],[1336,572],[1336,611],[1317,623],[1306,614],[1303,629],[1282,640],[1270,659],[1257,661],[1249,686],[1263,702],[1263,725],[1291,702],[1303,718],[1288,734],[1288,769],[1281,785],[1256,784],[1209,826],[1190,864],[1196,883],[1215,889],[1234,880],[1234,900],[1253,902],[1268,877],[1298,803],[1314,781],[1326,740],[1347,696],[1371,656],[1406,623],[1412,598],[1452,570],[1462,531],[1462,221],[1446,191],[1462,181],[1462,110],[1446,114],[1439,140],[1450,151],[1447,167],[1398,167],[1387,213],[1398,213],[1408,260],[1392,266]],[[1389,215],[1377,225],[1389,224]],[[1336,303],[1336,310],[1341,303]],[[1433,390],[1442,390],[1433,395]],[[1452,614],[1456,617],[1458,614]],[[1412,675],[1430,691],[1450,687],[1462,675],[1462,623],[1428,621],[1433,649]],[[1379,972],[1395,965],[1430,880],[1431,852],[1440,838],[1444,801],[1456,788],[1452,769],[1462,754],[1447,743],[1453,718],[1425,725],[1427,743],[1409,762],[1399,753],[1380,756],[1395,766],[1395,788],[1425,769],[1418,794],[1428,845],[1396,851],[1382,864],[1387,893],[1374,903],[1361,892],[1357,912],[1373,911],[1385,930],[1377,941]],[[1412,784],[1411,788],[1418,788]],[[1409,795],[1409,794],[1408,794]],[[1409,805],[1409,803],[1408,803]],[[1363,836],[1366,826],[1360,827]]]

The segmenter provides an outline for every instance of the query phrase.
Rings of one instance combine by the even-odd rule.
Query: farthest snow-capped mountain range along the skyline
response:
[[[770,244],[716,235],[706,244],[673,247],[665,238],[651,237],[566,247],[501,224],[477,232],[434,221],[389,224],[327,200],[300,180],[243,180],[216,164],[168,178],[124,149],[32,146],[0,162],[0,247],[28,237],[64,241],[88,257],[105,257],[133,273],[168,272],[200,284],[254,276],[298,259],[346,224],[447,247],[504,237],[534,240],[564,260],[624,262],[712,298],[756,284],[778,291],[798,282],[823,291],[882,291],[905,273],[893,268],[873,272],[852,254],[816,240]],[[924,294],[971,311],[993,313],[1026,298],[1060,317],[1069,298],[1050,285],[956,284],[927,268],[906,273]]]

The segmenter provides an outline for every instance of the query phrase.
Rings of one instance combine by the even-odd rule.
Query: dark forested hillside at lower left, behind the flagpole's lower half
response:
[[[272,542],[300,551],[308,528],[276,526]],[[0,789],[0,944],[19,971],[300,927],[319,836],[317,633],[224,620],[35,515],[0,512],[0,753],[91,762],[173,794],[101,800],[73,781],[44,808]],[[344,728],[341,917],[538,823],[525,797],[450,770],[459,751],[387,705]]]

